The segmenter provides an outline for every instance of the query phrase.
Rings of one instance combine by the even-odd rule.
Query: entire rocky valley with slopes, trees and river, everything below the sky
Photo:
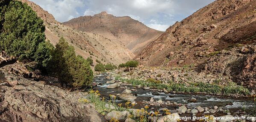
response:
[[[0,122],[256,122],[255,0],[215,0],[165,32],[0,5]]]

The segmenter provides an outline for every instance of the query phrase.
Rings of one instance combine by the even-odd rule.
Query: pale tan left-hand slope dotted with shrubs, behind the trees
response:
[[[84,58],[91,57],[94,64],[96,64],[96,59],[103,64],[120,64],[131,60],[135,56],[121,42],[113,41],[96,33],[72,29],[56,21],[53,15],[44,11],[35,3],[28,0],[20,1],[27,3],[44,20],[46,38],[54,45],[59,41],[59,38],[64,37],[69,44],[74,46],[78,55],[82,55]]]

